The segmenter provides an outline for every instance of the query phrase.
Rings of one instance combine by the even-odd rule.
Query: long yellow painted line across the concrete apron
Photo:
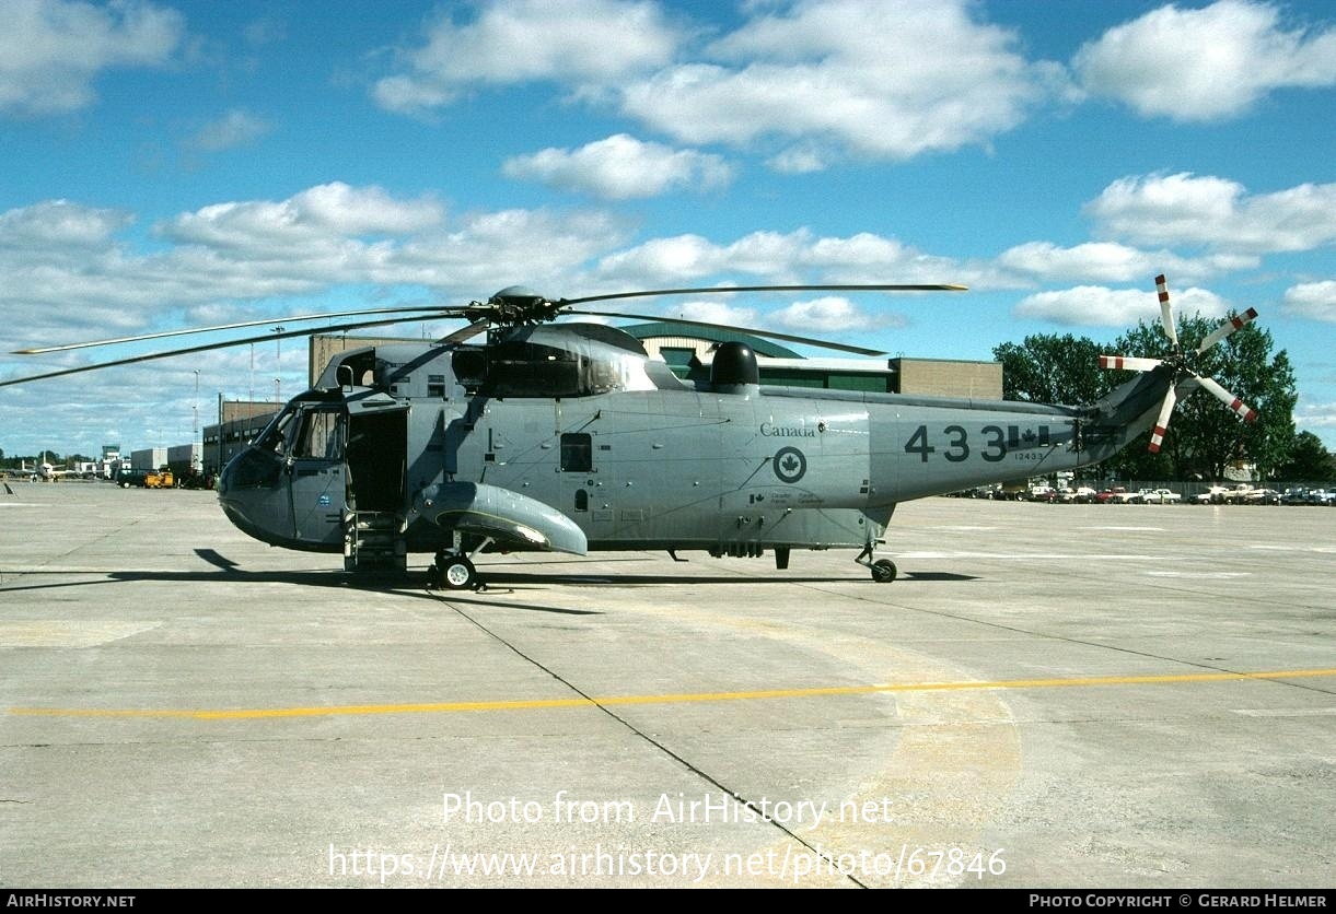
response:
[[[820,689],[767,689],[732,693],[681,693],[675,695],[617,695],[611,698],[536,698],[496,702],[432,702],[409,705],[331,705],[323,707],[258,707],[232,710],[184,709],[63,709],[11,707],[23,717],[69,718],[192,718],[195,721],[254,721],[262,718],[358,717],[367,714],[453,714],[460,711],[532,711],[565,707],[612,707],[617,705],[679,705],[685,702],[745,702],[767,698],[823,698],[880,693],[975,691],[985,689],[1055,689],[1082,686],[1150,686],[1164,683],[1238,682],[1245,679],[1304,679],[1336,676],[1325,670],[1275,670],[1268,672],[1182,672],[1150,676],[1083,676],[1070,679],[1002,679],[997,682],[883,683],[827,686]]]

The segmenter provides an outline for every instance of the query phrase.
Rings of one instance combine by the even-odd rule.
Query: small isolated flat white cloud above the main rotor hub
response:
[[[723,157],[693,149],[643,143],[627,133],[578,149],[548,148],[506,160],[509,177],[537,180],[607,200],[660,196],[673,189],[696,192],[721,188],[732,180]]]

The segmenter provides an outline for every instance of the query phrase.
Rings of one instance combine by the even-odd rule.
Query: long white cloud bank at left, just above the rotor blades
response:
[[[132,221],[61,200],[0,213],[0,314],[11,348],[126,335],[150,320],[198,326],[192,308],[224,303],[235,314],[341,286],[401,287],[398,298],[402,287],[418,298],[426,287],[450,302],[514,282],[565,286],[578,264],[624,242],[623,228],[600,213],[501,211],[448,224],[430,197],[346,184],[182,213],[156,227],[162,244],[152,250],[120,236]]]

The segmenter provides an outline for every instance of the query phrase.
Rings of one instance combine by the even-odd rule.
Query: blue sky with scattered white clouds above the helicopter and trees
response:
[[[1325,0],[5,0],[0,151],[0,380],[512,284],[962,283],[624,307],[991,359],[1158,319],[1164,272],[1257,308],[1336,450]],[[0,448],[184,444],[306,378],[275,338],[0,387]]]

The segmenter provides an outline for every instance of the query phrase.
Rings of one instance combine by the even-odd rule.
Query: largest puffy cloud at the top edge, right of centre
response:
[[[762,9],[768,9],[762,7]],[[903,160],[986,144],[1047,97],[1054,68],[969,3],[836,0],[759,15],[691,61],[633,81],[623,111],[687,143],[794,141],[771,157],[814,171],[840,155]]]

